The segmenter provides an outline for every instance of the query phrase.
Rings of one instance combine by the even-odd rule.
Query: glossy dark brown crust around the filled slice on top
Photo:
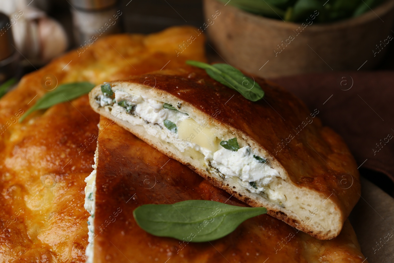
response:
[[[155,79],[156,82],[147,83],[147,78]],[[206,118],[215,116],[214,122],[226,125],[237,136],[240,134],[242,139],[251,142],[251,146],[265,149],[272,157],[270,161],[282,167],[294,185],[315,191],[322,202],[326,199],[332,201],[339,216],[333,222],[335,227],[332,227],[331,233],[324,233],[266,204],[268,213],[319,239],[335,237],[361,192],[355,160],[342,138],[330,128],[322,126],[316,117],[318,109],[310,113],[305,104],[283,88],[261,78],[255,80],[266,93],[263,100],[255,103],[195,67],[134,76],[130,80],[113,84],[141,84],[144,89],[159,94],[164,101],[169,95],[174,96],[184,106],[192,105],[194,110],[201,111]],[[91,105],[95,104],[92,95],[90,101]],[[111,116],[97,106],[93,106],[93,109],[104,116]],[[138,128],[130,127],[126,121],[117,120],[117,123],[160,149],[160,142],[153,141],[145,132],[137,132]],[[160,150],[249,205],[262,205],[212,178],[205,169],[195,167],[171,151]]]

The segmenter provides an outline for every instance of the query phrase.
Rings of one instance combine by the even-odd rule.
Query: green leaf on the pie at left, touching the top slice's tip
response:
[[[89,93],[95,84],[90,82],[74,82],[59,85],[55,90],[45,93],[30,109],[28,109],[19,121],[23,121],[30,113],[35,110],[47,109],[58,103],[70,101]]]

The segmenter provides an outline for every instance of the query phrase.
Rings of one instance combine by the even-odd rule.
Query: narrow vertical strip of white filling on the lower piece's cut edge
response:
[[[92,165],[94,169],[88,177],[85,178],[85,204],[84,207],[89,212],[90,216],[87,219],[87,229],[88,231],[88,238],[87,241],[89,242],[86,246],[85,254],[87,256],[87,263],[93,262],[93,237],[95,233],[94,227],[94,217],[95,217],[95,203],[96,203],[96,154],[94,157],[95,164]]]

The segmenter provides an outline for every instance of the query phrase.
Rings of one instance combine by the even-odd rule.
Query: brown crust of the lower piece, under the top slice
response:
[[[95,213],[95,263],[100,262],[333,262],[361,263],[355,233],[320,241],[281,220],[261,215],[216,241],[180,242],[138,227],[132,212],[147,203],[202,199],[245,205],[179,162],[100,118]],[[116,215],[116,216],[115,216]],[[287,239],[287,241],[286,241]],[[227,261],[228,260],[228,261]],[[269,261],[267,261],[269,262]],[[366,261],[364,261],[366,262]]]

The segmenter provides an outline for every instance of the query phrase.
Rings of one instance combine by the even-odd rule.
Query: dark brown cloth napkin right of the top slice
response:
[[[333,72],[272,79],[338,132],[357,164],[394,181],[394,71]]]

